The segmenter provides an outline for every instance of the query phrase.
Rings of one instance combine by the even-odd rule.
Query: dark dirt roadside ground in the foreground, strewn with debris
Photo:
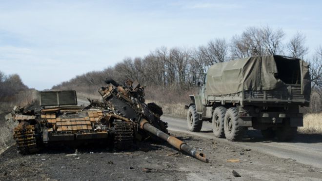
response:
[[[210,163],[181,154],[169,144],[143,142],[141,148],[113,152],[88,146],[75,149],[48,148],[38,154],[22,156],[15,146],[0,155],[0,181],[96,181],[96,180],[321,180],[322,169],[280,159],[238,146],[188,134],[174,136],[205,153]],[[236,159],[238,162],[227,162]],[[232,171],[241,177],[234,177]]]

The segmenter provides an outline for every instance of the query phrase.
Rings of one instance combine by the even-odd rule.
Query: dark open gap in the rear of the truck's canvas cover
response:
[[[277,71],[276,79],[282,80],[286,84],[301,84],[301,69],[299,59],[275,58]]]

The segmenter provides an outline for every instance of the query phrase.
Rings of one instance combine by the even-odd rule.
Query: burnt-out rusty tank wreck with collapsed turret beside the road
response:
[[[208,162],[203,153],[168,134],[167,123],[160,119],[161,107],[144,102],[144,87],[133,87],[131,80],[122,85],[114,80],[105,82],[107,85],[99,89],[102,101],[88,99],[88,106],[78,106],[72,90],[40,92],[37,111],[15,106],[6,120],[19,121],[14,129],[19,152],[31,154],[53,144],[94,142],[127,150],[137,141],[152,138]]]

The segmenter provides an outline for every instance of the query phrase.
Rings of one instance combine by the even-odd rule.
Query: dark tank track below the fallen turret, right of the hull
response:
[[[114,148],[118,151],[131,149],[134,141],[133,123],[114,121],[114,128]]]

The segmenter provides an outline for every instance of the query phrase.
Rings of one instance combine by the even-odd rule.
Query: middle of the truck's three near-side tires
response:
[[[227,109],[222,106],[216,107],[212,115],[212,131],[217,138],[225,138],[223,123],[225,120],[226,111]]]

